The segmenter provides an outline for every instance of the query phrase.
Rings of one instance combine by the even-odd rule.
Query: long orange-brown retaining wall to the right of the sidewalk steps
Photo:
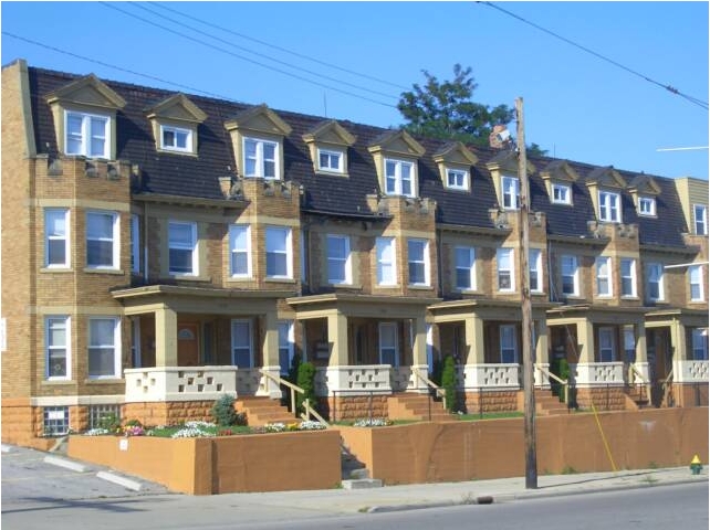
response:
[[[617,469],[708,462],[708,409],[599,413]],[[537,474],[613,470],[594,414],[537,417]],[[345,445],[385,484],[525,475],[523,418],[340,427]]]

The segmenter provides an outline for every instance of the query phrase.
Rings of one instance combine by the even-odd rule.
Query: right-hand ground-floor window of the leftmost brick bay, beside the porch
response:
[[[121,319],[88,319],[88,377],[121,377]]]

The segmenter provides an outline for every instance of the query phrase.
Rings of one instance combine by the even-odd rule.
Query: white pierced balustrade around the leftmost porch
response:
[[[237,367],[152,367],[124,370],[126,403],[213,401],[237,393]]]

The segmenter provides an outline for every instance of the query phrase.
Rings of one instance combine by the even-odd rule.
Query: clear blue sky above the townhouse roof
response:
[[[708,178],[707,108],[643,78],[707,107],[708,2],[494,6],[623,67],[485,3],[440,1],[3,1],[2,64],[21,57],[31,66],[389,127],[403,124],[398,96],[424,82],[422,70],[445,81],[460,63],[472,67],[476,102],[512,107],[523,97],[526,142],[551,156]],[[706,149],[658,151],[688,147]]]

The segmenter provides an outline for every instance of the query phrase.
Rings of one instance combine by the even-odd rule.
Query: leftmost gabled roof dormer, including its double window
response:
[[[54,118],[60,152],[86,158],[116,158],[116,112],[126,100],[94,74],[45,96]]]

